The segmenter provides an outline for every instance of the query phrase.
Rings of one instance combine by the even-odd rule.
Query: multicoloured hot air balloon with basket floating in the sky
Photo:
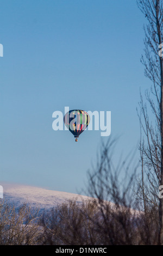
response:
[[[68,111],[64,116],[64,123],[68,130],[78,141],[79,135],[85,130],[90,123],[90,116],[86,111],[73,109]]]

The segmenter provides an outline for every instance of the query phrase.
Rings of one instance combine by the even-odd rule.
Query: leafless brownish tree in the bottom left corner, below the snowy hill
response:
[[[18,210],[7,202],[0,204],[0,245],[39,245],[42,230],[37,223],[39,210],[23,204]]]

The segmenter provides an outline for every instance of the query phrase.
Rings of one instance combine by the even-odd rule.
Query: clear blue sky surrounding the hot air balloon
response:
[[[136,0],[0,4],[0,182],[76,193],[96,163],[101,131],[76,143],[52,129],[52,113],[111,111],[117,158],[137,147],[139,91],[150,85],[140,63],[145,18]]]

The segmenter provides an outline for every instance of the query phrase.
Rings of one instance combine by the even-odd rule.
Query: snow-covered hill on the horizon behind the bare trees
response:
[[[47,190],[45,188],[33,187],[17,184],[1,184],[3,186],[3,198],[10,204],[18,208],[23,203],[30,204],[32,207],[49,209],[57,204],[65,202],[67,199],[77,198],[77,202],[89,199],[90,197],[78,194]],[[2,200],[2,199],[0,199]]]

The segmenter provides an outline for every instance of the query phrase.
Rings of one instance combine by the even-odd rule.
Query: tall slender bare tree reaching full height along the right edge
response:
[[[141,62],[145,66],[145,76],[152,81],[151,92],[146,90],[147,104],[141,95],[139,105],[143,133],[139,148],[142,163],[139,196],[145,211],[148,203],[159,206],[158,243],[163,245],[163,202],[158,198],[159,186],[163,185],[163,59],[158,54],[163,42],[163,0],[137,0],[137,5],[147,19],[144,26],[145,56],[141,57]],[[153,114],[151,120],[149,111]]]

